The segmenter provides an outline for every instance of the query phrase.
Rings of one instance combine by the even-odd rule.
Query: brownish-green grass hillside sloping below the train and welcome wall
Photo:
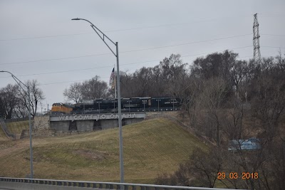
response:
[[[33,139],[34,177],[119,181],[118,128],[66,137]],[[29,173],[28,139],[0,142],[0,176]],[[192,149],[208,147],[167,119],[123,127],[125,181],[153,183],[157,174],[173,172]]]

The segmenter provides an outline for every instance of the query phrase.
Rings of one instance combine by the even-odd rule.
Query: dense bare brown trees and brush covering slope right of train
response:
[[[224,51],[197,58],[182,97],[189,126],[214,142],[208,152],[195,149],[157,184],[236,189],[285,189],[285,59],[237,60]],[[182,90],[182,89],[181,89]],[[232,139],[259,139],[261,149],[229,152]],[[220,173],[257,178],[218,179]]]

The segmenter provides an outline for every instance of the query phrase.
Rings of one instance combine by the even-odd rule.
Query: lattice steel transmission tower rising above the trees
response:
[[[254,63],[261,64],[260,46],[259,46],[259,23],[257,21],[257,14],[254,14]]]

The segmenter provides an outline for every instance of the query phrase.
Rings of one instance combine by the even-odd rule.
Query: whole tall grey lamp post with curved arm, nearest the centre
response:
[[[71,19],[73,21],[87,21],[90,23],[93,30],[98,34],[98,36],[101,38],[101,40],[108,46],[110,51],[114,54],[114,56],[117,58],[117,90],[118,90],[118,124],[119,124],[119,146],[120,146],[120,182],[124,182],[124,164],[123,164],[123,134],[122,134],[122,115],[121,115],[121,105],[120,105],[120,69],[119,69],[119,51],[118,51],[118,42],[113,42],[108,36],[105,35],[102,31],[100,31],[96,26],[94,26],[93,23],[86,19]],[[116,47],[116,51],[114,52],[108,43],[106,43],[105,39],[113,43]]]

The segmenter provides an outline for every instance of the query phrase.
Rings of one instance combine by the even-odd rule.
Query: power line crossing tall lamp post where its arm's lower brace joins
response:
[[[189,43],[180,43],[180,44],[175,44],[175,45],[170,45],[170,46],[157,46],[157,47],[152,47],[152,48],[142,48],[142,49],[137,49],[137,50],[121,51],[119,53],[130,53],[130,52],[135,52],[135,51],[146,51],[146,50],[152,50],[152,49],[158,49],[158,48],[170,48],[170,47],[175,47],[175,46],[185,46],[185,45],[194,44],[194,43],[218,41],[218,40],[224,40],[224,39],[228,39],[228,38],[237,38],[237,37],[249,36],[249,35],[252,35],[252,33],[242,34],[242,35],[238,35],[238,36],[229,36],[229,37],[224,37],[224,38],[214,38],[214,39],[210,39],[210,40],[206,40],[206,41],[194,41],[194,42],[189,42]],[[64,59],[73,59],[73,58],[85,58],[85,57],[103,56],[103,55],[109,55],[109,54],[112,54],[112,53],[100,53],[100,54],[94,54],[94,55],[74,56],[74,57],[68,57],[68,58],[52,58],[52,59],[42,59],[42,60],[28,60],[28,61],[22,61],[22,62],[0,63],[0,65],[35,63],[35,62],[43,62],[43,61],[49,61],[49,60],[64,60]]]

